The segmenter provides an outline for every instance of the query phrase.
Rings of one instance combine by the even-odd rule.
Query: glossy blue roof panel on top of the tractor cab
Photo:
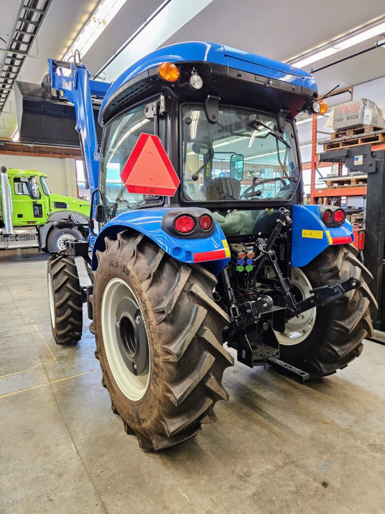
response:
[[[104,97],[99,112],[99,122],[103,121],[103,110],[109,98],[118,91],[126,82],[139,76],[144,71],[159,66],[162,62],[189,62],[200,61],[221,64],[230,68],[240,69],[256,75],[262,75],[271,79],[282,80],[293,85],[309,87],[317,93],[316,81],[309,72],[290,66],[273,59],[258,56],[218,43],[189,42],[159,48],[146,57],[130,66],[123,74],[113,82]]]

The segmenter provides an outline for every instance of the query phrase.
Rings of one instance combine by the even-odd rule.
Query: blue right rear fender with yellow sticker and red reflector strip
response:
[[[345,221],[340,227],[326,227],[318,205],[293,206],[292,266],[309,264],[330,245],[354,241],[353,227]]]

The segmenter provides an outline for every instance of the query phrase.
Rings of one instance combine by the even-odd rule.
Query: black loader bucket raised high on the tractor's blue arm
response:
[[[30,82],[16,81],[14,93],[20,142],[80,146],[73,104],[56,99],[42,85]],[[102,127],[98,113],[99,105],[94,107],[93,115],[100,142]]]

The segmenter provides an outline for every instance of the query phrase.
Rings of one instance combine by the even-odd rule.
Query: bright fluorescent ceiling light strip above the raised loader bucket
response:
[[[68,61],[79,50],[81,57],[91,48],[113,17],[118,14],[127,0],[102,0],[86,26],[74,40],[63,60]]]

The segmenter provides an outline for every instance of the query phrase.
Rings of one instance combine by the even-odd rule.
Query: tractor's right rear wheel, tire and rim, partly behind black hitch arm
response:
[[[310,289],[343,282],[350,277],[361,281],[358,289],[324,307],[305,311],[276,333],[280,358],[312,378],[345,368],[362,351],[362,340],[373,335],[370,312],[377,308],[369,287],[373,277],[356,257],[352,245],[329,246],[310,264],[293,268],[293,293],[297,301],[311,296]]]

